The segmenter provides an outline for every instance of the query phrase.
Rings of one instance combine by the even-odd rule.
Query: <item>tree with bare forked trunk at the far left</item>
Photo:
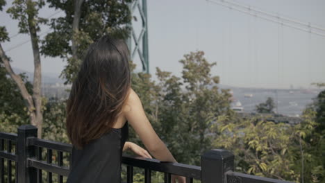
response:
[[[40,62],[40,46],[38,31],[40,31],[40,24],[47,22],[47,19],[38,17],[38,10],[44,6],[44,1],[32,0],[15,0],[13,6],[7,10],[12,19],[19,21],[19,33],[27,33],[31,37],[34,58],[34,78],[33,78],[33,93],[28,92],[24,85],[24,80],[17,75],[11,68],[10,58],[3,51],[0,43],[0,58],[6,71],[9,73],[12,80],[15,81],[19,88],[22,97],[26,101],[28,115],[32,125],[38,127],[38,137],[42,136],[42,97],[41,97],[41,62]],[[1,1],[0,6],[6,5],[6,1]],[[9,41],[8,33],[5,27],[0,28],[0,42]]]

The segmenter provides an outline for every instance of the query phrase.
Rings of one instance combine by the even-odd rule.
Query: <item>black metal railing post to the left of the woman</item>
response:
[[[27,146],[27,137],[38,137],[38,128],[33,125],[21,125],[17,130],[18,183],[35,183],[36,168],[28,167],[27,157],[35,156],[35,148]]]

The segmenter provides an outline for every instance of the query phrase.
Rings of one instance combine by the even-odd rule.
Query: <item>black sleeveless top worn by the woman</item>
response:
[[[122,150],[127,138],[128,121],[122,128],[113,128],[82,150],[73,147],[67,183],[120,183]]]

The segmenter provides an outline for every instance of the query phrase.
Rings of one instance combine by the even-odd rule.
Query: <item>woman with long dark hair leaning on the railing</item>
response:
[[[67,183],[121,182],[122,151],[176,162],[153,130],[138,95],[131,88],[128,49],[105,35],[90,45],[67,103],[67,134],[73,144]],[[126,141],[128,124],[144,150]],[[185,182],[185,177],[172,175]]]

